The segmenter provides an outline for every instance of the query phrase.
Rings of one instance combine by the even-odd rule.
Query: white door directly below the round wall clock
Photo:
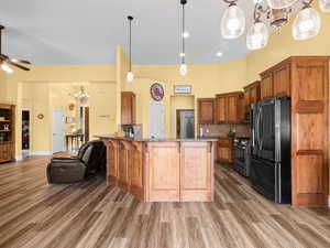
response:
[[[150,138],[165,138],[165,106],[163,103],[151,103],[150,106]]]

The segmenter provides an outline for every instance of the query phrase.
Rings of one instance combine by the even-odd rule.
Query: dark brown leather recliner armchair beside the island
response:
[[[82,144],[77,157],[54,158],[47,164],[50,184],[76,183],[95,175],[106,166],[106,147],[102,141]]]

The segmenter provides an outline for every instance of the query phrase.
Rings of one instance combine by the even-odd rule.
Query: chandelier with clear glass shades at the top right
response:
[[[238,39],[244,33],[245,14],[238,6],[239,0],[223,0],[229,4],[221,19],[221,34],[224,39]],[[246,46],[249,50],[260,50],[267,45],[268,26],[279,31],[285,25],[299,4],[294,24],[293,37],[297,41],[311,39],[320,32],[321,18],[312,7],[314,0],[255,0],[253,24],[246,33]],[[319,0],[322,12],[330,12],[330,0]],[[266,23],[268,22],[268,23]]]

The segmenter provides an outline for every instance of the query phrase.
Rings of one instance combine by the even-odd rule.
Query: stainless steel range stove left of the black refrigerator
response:
[[[233,168],[241,175],[250,176],[251,152],[250,138],[234,139],[234,164]]]

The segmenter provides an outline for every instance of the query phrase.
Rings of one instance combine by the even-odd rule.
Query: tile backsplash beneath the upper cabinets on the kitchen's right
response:
[[[202,137],[218,138],[227,137],[229,131],[235,131],[237,137],[250,137],[249,125],[198,125],[198,137],[202,128]]]

